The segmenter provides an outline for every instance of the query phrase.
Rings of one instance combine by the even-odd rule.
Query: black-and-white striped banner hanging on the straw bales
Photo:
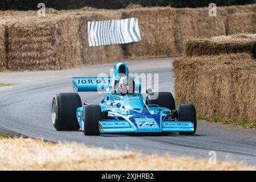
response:
[[[137,18],[88,22],[89,46],[126,44],[141,40]]]

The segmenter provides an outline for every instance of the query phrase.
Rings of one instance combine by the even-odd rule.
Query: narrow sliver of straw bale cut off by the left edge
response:
[[[0,23],[0,71],[6,69],[6,36],[5,24]]]

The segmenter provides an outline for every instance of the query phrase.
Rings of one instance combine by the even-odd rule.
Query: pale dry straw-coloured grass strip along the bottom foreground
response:
[[[243,163],[208,159],[173,158],[105,150],[76,143],[50,143],[39,139],[0,139],[3,170],[256,170]]]

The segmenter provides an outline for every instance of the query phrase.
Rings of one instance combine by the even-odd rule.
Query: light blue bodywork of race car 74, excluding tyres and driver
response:
[[[105,92],[99,103],[102,119],[99,121],[100,133],[161,133],[193,132],[194,126],[189,121],[178,121],[174,117],[177,110],[169,110],[159,105],[146,105],[141,94],[141,84],[135,80],[135,93],[119,95],[113,92],[115,83],[120,80],[120,73],[128,76],[125,63],[117,63],[113,77],[73,78],[74,92]],[[76,110],[76,118],[82,128],[83,107]],[[176,114],[177,115],[177,114]]]

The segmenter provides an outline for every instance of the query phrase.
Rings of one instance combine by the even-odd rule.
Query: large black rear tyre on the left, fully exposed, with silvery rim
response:
[[[82,107],[77,93],[58,93],[52,100],[52,124],[57,131],[78,131],[76,109]]]

